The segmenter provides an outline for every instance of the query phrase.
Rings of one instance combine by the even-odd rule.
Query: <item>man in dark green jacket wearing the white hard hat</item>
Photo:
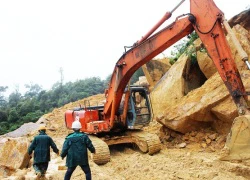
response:
[[[74,133],[69,134],[63,144],[61,157],[63,159],[67,156],[66,166],[68,167],[64,180],[70,179],[78,165],[84,171],[86,180],[91,180],[87,149],[89,149],[91,153],[95,153],[95,148],[89,137],[85,133],[80,132],[81,128],[81,123],[77,120],[74,121],[72,123]]]

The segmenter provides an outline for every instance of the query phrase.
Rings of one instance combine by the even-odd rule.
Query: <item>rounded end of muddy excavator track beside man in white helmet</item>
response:
[[[89,138],[95,147],[95,154],[92,154],[92,160],[98,165],[106,164],[110,161],[110,151],[108,145],[96,136],[90,135]]]

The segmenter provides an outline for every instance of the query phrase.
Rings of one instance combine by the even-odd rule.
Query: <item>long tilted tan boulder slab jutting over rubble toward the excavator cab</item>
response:
[[[201,88],[191,91],[179,102],[168,106],[156,120],[170,129],[182,133],[209,125],[213,119],[210,109],[219,100],[229,96],[218,74],[212,76]]]

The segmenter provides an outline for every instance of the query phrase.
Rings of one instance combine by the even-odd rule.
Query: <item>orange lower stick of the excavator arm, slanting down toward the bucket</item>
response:
[[[247,95],[230,47],[224,35],[224,15],[213,1],[192,0],[191,13],[195,31],[224,81],[240,115],[248,113]]]

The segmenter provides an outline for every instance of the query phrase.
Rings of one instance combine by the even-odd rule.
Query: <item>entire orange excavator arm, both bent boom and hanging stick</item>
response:
[[[160,22],[170,16],[171,13],[166,13]],[[190,0],[189,14],[178,17],[175,22],[152,36],[150,36],[152,33],[150,31],[146,38],[135,43],[129,51],[124,53],[116,63],[106,92],[104,119],[110,122],[111,128],[124,89],[134,72],[194,30],[212,58],[239,114],[248,113],[245,88],[224,34],[223,21],[223,12],[212,0]],[[160,24],[157,23],[153,30]]]

